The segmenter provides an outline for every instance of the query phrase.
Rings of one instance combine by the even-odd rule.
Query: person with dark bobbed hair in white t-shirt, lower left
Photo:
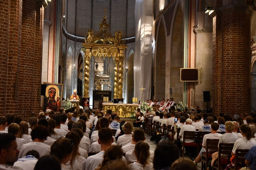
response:
[[[48,136],[48,129],[45,126],[36,125],[33,127],[31,131],[31,139],[33,142],[29,142],[24,144],[20,148],[20,153],[18,158],[22,158],[26,155],[26,153],[30,150],[38,151],[40,157],[44,155],[48,155],[50,153],[50,146],[43,143]]]

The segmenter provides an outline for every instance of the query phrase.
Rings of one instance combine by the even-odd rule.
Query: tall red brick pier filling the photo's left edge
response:
[[[32,0],[5,0],[0,5],[0,114],[40,110],[44,9]],[[17,98],[14,84],[17,78]],[[40,96],[39,96],[40,97]]]

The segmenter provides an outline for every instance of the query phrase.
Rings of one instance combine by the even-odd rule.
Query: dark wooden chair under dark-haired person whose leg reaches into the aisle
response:
[[[202,153],[202,170],[203,170],[203,163],[205,163],[205,166],[207,169],[208,167],[208,162],[209,162],[209,158],[212,158],[212,154],[214,152],[218,151],[218,143],[219,143],[219,139],[206,139],[206,145],[205,145],[205,150],[206,153]],[[209,149],[211,149],[211,152],[209,152]]]

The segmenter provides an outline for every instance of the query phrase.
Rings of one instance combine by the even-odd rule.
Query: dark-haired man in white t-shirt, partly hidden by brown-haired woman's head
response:
[[[140,141],[144,141],[145,138],[145,133],[144,130],[142,129],[135,129],[133,131],[133,135],[132,135],[132,142],[122,146],[122,150],[125,154],[125,158],[127,160],[127,163],[133,163],[137,161],[137,158],[135,156],[135,154],[133,153],[134,147],[136,145],[137,142]],[[154,152],[150,150],[150,157],[148,158],[148,161],[150,161],[151,163],[153,163],[153,159],[154,159]]]

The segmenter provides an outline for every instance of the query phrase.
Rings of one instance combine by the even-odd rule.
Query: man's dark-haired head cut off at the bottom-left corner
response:
[[[0,169],[20,169],[6,165],[17,161],[19,151],[13,134],[0,133]]]

